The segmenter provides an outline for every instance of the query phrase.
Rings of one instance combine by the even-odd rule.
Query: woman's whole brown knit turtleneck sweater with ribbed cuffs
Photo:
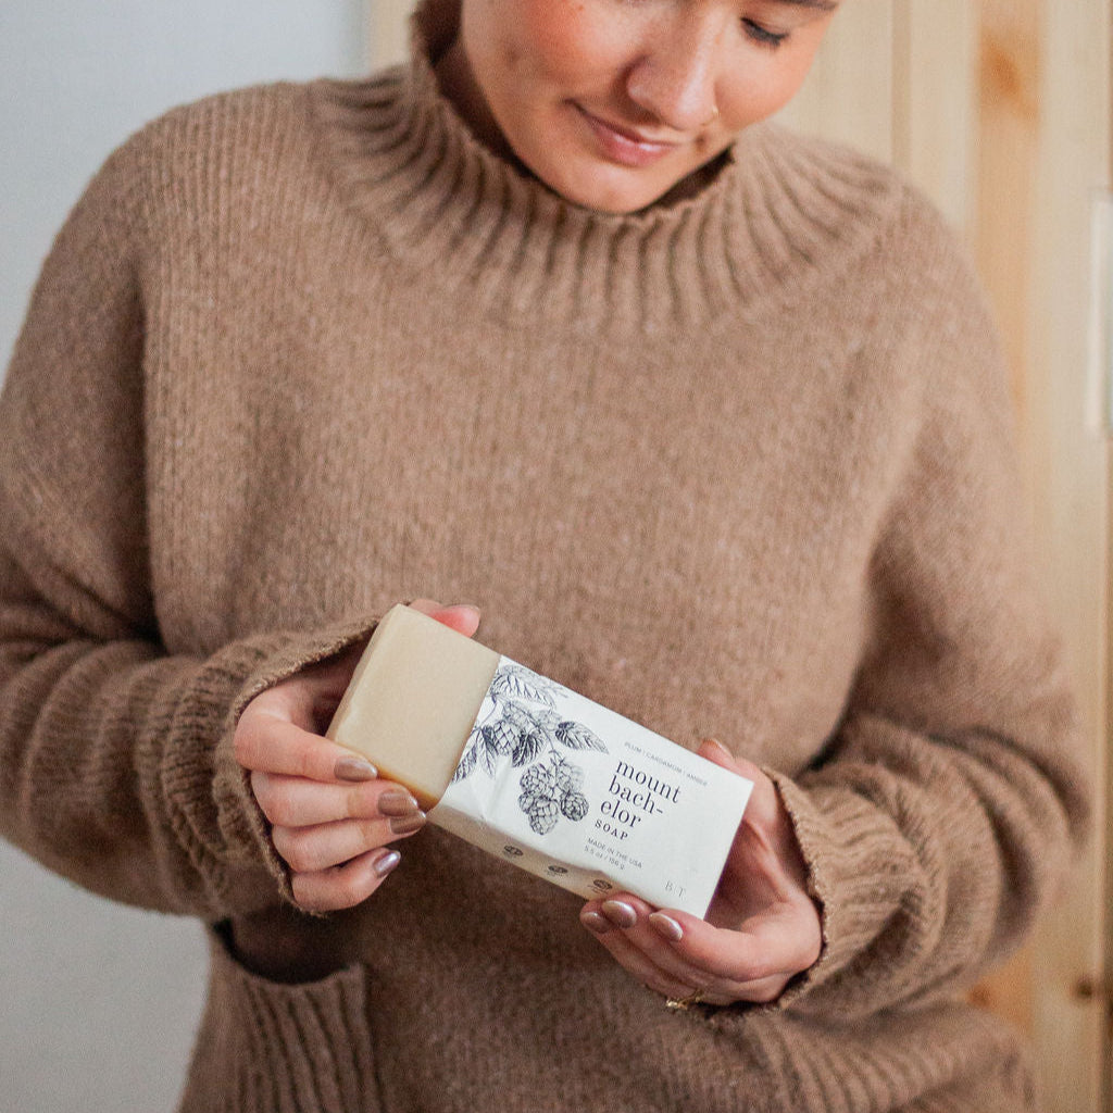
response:
[[[214,930],[190,1113],[1036,1107],[958,998],[1086,801],[965,262],[768,126],[695,198],[569,206],[466,134],[424,27],[406,70],[171,112],[61,232],[0,403],[0,830],[333,969]],[[825,938],[781,1001],[669,1013],[436,830],[289,910],[233,723],[416,595],[776,770]]]

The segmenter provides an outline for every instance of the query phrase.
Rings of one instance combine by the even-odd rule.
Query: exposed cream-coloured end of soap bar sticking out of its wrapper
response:
[[[327,735],[432,808],[452,780],[499,654],[410,607],[372,634]]]

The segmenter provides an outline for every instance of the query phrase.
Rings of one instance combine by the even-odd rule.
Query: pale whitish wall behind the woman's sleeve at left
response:
[[[105,156],[174,104],[364,69],[363,0],[0,0],[0,366]],[[173,1110],[199,927],[79,892],[0,843],[0,1111]]]

